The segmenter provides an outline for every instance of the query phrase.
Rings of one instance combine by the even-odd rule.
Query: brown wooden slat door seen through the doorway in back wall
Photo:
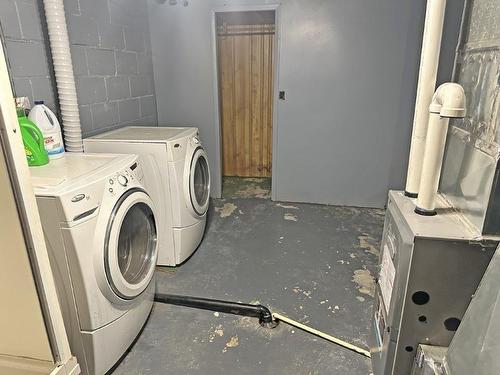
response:
[[[223,175],[271,176],[274,25],[218,28]]]

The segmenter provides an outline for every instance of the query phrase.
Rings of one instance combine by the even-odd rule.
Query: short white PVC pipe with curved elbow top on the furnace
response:
[[[444,83],[436,90],[429,106],[427,142],[422,163],[422,178],[419,186],[415,212],[435,215],[435,199],[439,176],[443,165],[443,154],[450,118],[465,117],[465,93],[457,83]]]

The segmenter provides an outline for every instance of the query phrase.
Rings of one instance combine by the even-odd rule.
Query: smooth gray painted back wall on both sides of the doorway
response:
[[[148,0],[159,124],[200,128],[220,195],[211,11],[270,1]],[[425,1],[283,0],[274,198],[381,207],[406,176]],[[440,81],[463,0],[449,1]]]

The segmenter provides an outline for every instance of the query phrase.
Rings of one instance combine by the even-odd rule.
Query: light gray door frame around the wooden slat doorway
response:
[[[216,162],[219,165],[219,173],[217,176],[213,176],[214,179],[217,179],[220,186],[220,192],[218,198],[222,196],[222,131],[221,131],[221,121],[220,121],[220,97],[219,97],[219,65],[217,59],[217,22],[216,15],[217,13],[224,12],[252,12],[252,11],[266,11],[272,10],[274,11],[274,22],[275,22],[275,33],[274,33],[274,79],[273,79],[273,140],[272,140],[272,170],[271,170],[271,200],[276,200],[276,192],[277,186],[277,171],[276,171],[276,160],[277,160],[277,152],[278,149],[278,102],[279,102],[279,51],[281,49],[281,5],[276,4],[262,4],[262,5],[225,5],[225,6],[217,6],[211,10],[211,24],[212,24],[212,74],[213,74],[213,95],[215,97],[214,106],[215,106],[215,147],[216,147]]]

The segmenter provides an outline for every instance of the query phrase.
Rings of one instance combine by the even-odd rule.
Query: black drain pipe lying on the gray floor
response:
[[[164,293],[156,293],[155,302],[259,318],[260,325],[266,328],[274,328],[278,325],[269,308],[263,305]]]

